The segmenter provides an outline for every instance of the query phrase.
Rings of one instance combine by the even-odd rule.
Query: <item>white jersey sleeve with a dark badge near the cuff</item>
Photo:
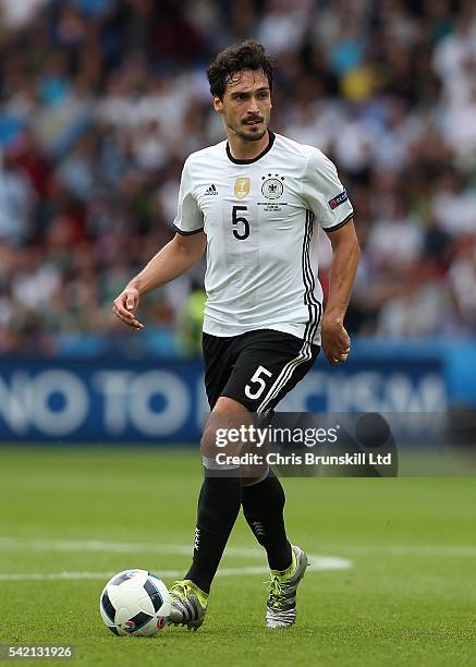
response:
[[[334,163],[320,150],[315,150],[307,160],[303,196],[326,231],[343,227],[354,215]]]

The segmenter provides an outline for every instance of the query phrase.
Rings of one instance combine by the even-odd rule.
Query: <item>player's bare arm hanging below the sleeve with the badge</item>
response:
[[[343,227],[329,231],[332,245],[330,288],[322,317],[322,350],[331,365],[349,356],[351,339],[344,328],[344,316],[354,284],[361,247],[351,219]]]

